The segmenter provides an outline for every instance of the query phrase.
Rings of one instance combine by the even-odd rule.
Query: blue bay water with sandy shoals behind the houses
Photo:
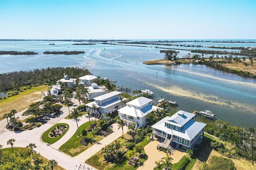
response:
[[[55,45],[49,45],[55,43]],[[81,67],[93,75],[116,79],[116,85],[154,92],[177,101],[177,110],[210,110],[230,125],[256,127],[256,79],[224,73],[204,65],[145,65],[163,59],[154,47],[72,45],[74,42],[0,41],[0,50],[35,51],[38,55],[0,55],[0,73],[47,67]],[[214,43],[216,44],[216,43]],[[233,45],[236,45],[232,43]],[[246,44],[246,43],[245,43]],[[239,46],[239,45],[238,45]],[[250,45],[250,46],[253,46]],[[256,46],[256,45],[254,45]],[[85,51],[78,55],[44,55],[44,51]],[[190,51],[181,50],[179,57]],[[131,91],[127,91],[132,95]],[[170,106],[171,109],[175,108]]]

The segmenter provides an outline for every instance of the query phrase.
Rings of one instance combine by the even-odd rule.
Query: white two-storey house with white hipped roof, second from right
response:
[[[148,113],[159,108],[153,106],[152,101],[152,99],[146,97],[138,97],[126,103],[125,107],[118,109],[118,116],[120,116],[120,119],[126,121],[127,126],[135,123],[135,125],[138,124],[138,128],[143,127],[148,123]]]

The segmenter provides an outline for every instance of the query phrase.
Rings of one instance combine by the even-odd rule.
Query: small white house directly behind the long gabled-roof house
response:
[[[92,100],[106,93],[108,93],[108,89],[104,85],[99,86],[97,83],[92,83],[92,85],[88,87],[88,100]]]

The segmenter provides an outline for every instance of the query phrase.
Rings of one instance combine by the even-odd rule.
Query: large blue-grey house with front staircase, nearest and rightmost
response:
[[[193,150],[204,136],[205,123],[195,121],[196,114],[178,111],[171,117],[165,117],[151,127],[152,135],[161,140],[160,146],[172,150],[187,148]]]

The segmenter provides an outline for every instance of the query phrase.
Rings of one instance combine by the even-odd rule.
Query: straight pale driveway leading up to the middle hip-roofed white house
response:
[[[106,138],[103,138],[102,140],[100,140],[100,142],[94,144],[93,146],[91,146],[78,156],[75,156],[74,158],[80,160],[81,162],[85,162],[87,159],[89,159],[91,156],[93,156],[94,154],[99,152],[103,147],[105,147],[105,145],[110,144],[111,142],[122,136],[122,128],[118,130],[117,123],[113,124],[111,128],[113,128],[113,132],[110,135],[106,136]],[[128,127],[124,126],[124,134],[127,133],[127,130]]]

